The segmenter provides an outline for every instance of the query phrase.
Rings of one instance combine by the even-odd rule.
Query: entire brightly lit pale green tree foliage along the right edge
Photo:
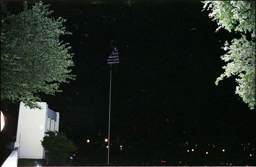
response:
[[[217,21],[218,31],[224,28],[231,32],[241,33],[240,39],[233,39],[231,44],[225,42],[224,50],[229,50],[221,56],[228,64],[222,67],[225,72],[216,80],[218,85],[224,77],[236,75],[235,93],[238,94],[250,109],[255,107],[255,1],[203,1],[203,10],[211,9],[209,17]]]

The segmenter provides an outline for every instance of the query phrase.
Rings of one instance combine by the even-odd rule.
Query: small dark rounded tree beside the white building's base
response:
[[[72,140],[68,140],[65,134],[57,131],[46,132],[41,144],[47,151],[46,157],[50,165],[66,165],[69,154],[77,150]]]

